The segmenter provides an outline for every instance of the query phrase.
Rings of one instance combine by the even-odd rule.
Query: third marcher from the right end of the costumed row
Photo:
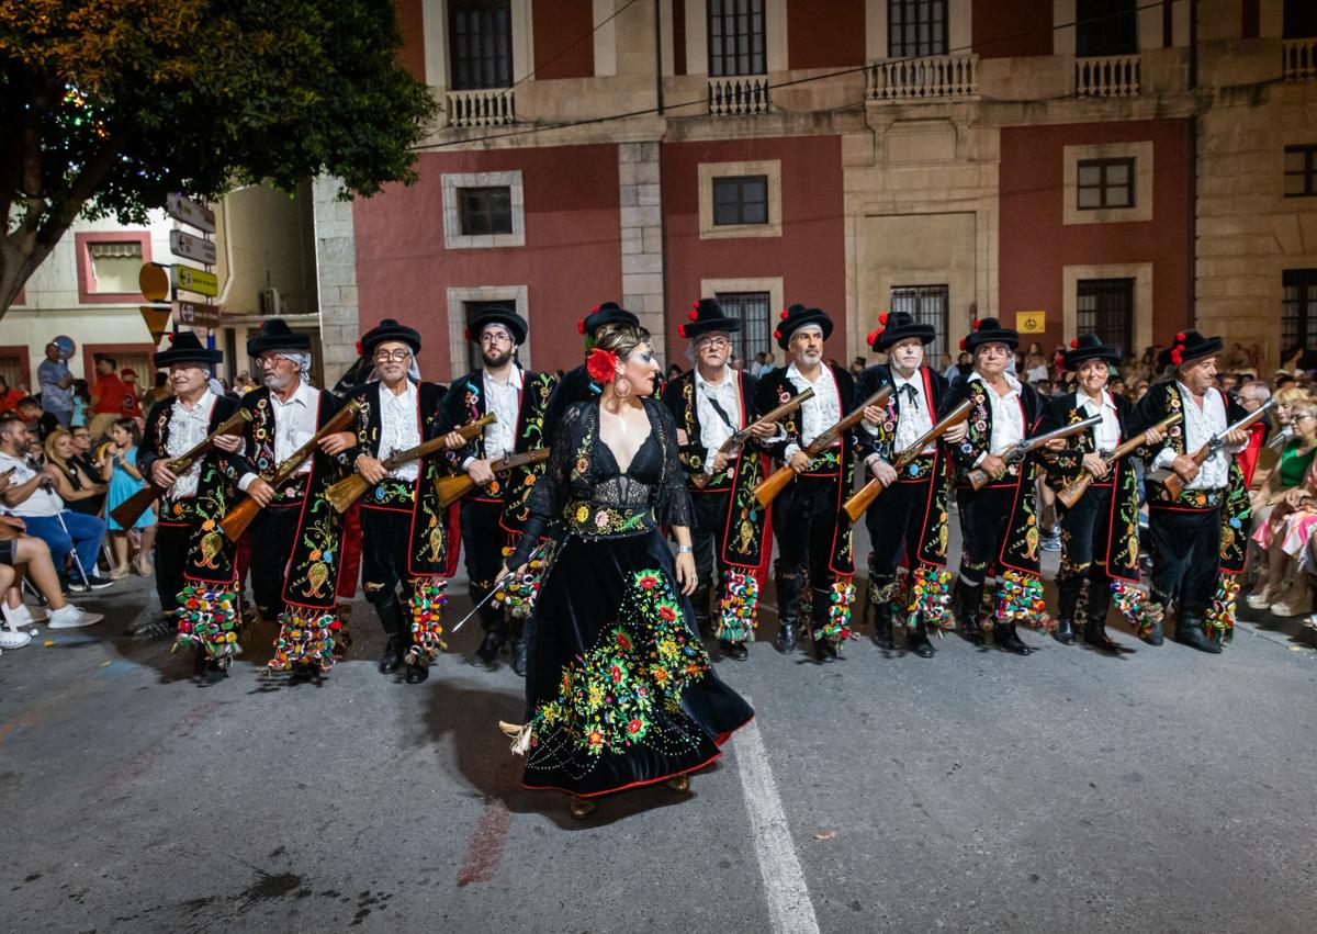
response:
[[[1033,649],[1015,626],[1047,624],[1038,559],[1036,464],[1034,457],[1008,464],[1002,454],[1038,433],[1043,400],[1006,369],[1017,346],[1019,335],[1004,328],[996,317],[975,320],[961,341],[961,348],[973,354],[975,369],[947,393],[939,416],[969,400],[964,439],[946,445],[955,465],[963,541],[956,586],[961,634],[982,644],[982,630],[988,628],[1000,648],[1029,655]],[[1052,449],[1064,445],[1064,440],[1051,443]],[[969,482],[975,468],[990,478],[980,490]],[[979,607],[992,568],[997,574],[997,598],[992,617],[980,627]]]

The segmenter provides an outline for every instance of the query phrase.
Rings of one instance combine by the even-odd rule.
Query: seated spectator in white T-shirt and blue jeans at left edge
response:
[[[28,426],[21,419],[0,415],[0,473],[11,470],[9,486],[3,494],[4,506],[50,547],[50,557],[58,570],[63,570],[70,553],[76,549],[86,578],[70,586],[76,590],[100,590],[111,581],[96,576],[96,557],[105,539],[105,523],[91,515],[82,515],[65,508],[59,494],[54,491],[54,472],[47,466],[33,469],[28,462]]]

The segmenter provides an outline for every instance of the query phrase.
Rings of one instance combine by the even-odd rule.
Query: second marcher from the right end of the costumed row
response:
[[[1062,564],[1056,574],[1060,590],[1056,642],[1075,642],[1080,591],[1088,580],[1088,613],[1084,642],[1108,652],[1129,652],[1106,635],[1106,614],[1113,591],[1117,607],[1135,634],[1146,636],[1160,623],[1160,607],[1139,588],[1139,486],[1133,454],[1108,469],[1105,458],[1130,437],[1130,402],[1106,389],[1112,369],[1121,362],[1121,349],[1104,344],[1097,335],[1071,341],[1062,366],[1076,375],[1076,389],[1047,404],[1042,431],[1100,415],[1102,423],[1072,436],[1064,451],[1044,452],[1047,485],[1060,493],[1079,480],[1093,477],[1080,499],[1062,510]],[[1147,444],[1160,444],[1163,435],[1150,429]]]

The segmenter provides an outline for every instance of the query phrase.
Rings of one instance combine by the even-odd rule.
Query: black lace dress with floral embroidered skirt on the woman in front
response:
[[[527,788],[593,797],[672,779],[753,717],[714,673],[680,593],[661,530],[690,526],[690,495],[672,415],[644,408],[651,433],[626,470],[599,439],[599,403],[568,410],[508,561],[552,532],[519,736]]]

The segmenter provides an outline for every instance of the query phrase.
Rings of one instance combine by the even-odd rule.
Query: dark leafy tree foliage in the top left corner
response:
[[[391,0],[0,0],[0,314],[79,213],[414,179],[435,103]]]

